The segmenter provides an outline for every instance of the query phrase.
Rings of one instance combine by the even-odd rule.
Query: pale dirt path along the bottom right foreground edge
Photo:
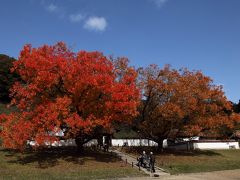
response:
[[[240,180],[240,169],[214,171],[205,173],[189,173],[171,176],[124,178],[122,180],[144,180],[144,179],[163,179],[163,180]]]

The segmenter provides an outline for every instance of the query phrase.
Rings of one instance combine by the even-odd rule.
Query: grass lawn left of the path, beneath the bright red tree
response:
[[[113,179],[144,176],[111,154],[74,148],[19,153],[0,149],[0,179]]]

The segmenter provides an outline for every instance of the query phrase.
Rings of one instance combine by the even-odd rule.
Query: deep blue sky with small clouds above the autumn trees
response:
[[[240,99],[239,0],[1,0],[0,53],[66,42],[131,64],[202,70]]]

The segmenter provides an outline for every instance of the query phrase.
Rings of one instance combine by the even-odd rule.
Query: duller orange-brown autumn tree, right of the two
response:
[[[164,139],[178,135],[224,137],[223,132],[240,120],[231,112],[222,87],[200,71],[151,65],[139,73],[143,92],[139,129],[159,148]]]

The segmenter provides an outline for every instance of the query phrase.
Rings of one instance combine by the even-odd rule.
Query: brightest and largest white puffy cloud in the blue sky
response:
[[[94,31],[105,31],[107,21],[104,17],[89,17],[84,24],[84,28]]]

